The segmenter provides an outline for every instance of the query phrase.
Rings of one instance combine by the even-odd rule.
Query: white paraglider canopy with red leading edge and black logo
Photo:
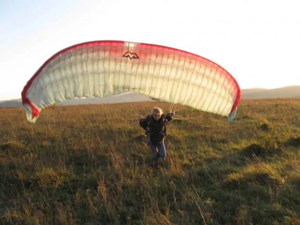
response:
[[[160,45],[124,41],[77,44],[50,57],[27,82],[27,120],[57,102],[133,91],[173,104],[227,116],[240,100],[233,76],[199,55]]]

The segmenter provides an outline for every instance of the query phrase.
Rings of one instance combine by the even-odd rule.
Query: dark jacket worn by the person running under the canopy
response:
[[[146,119],[140,120],[141,127],[146,130],[146,134],[150,135],[150,141],[157,145],[160,141],[164,139],[163,128],[165,122],[172,120],[172,114],[168,113],[167,115],[163,114],[159,121],[155,121],[151,115],[148,115]]]

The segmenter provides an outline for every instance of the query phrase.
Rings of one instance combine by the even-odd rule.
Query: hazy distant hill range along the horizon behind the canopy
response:
[[[241,99],[264,99],[264,98],[300,98],[300,86],[289,86],[275,89],[250,88],[241,89]],[[105,98],[83,98],[67,100],[58,105],[75,105],[75,104],[111,104],[126,102],[145,102],[152,101],[148,96],[126,92],[120,95]],[[21,99],[1,101],[0,107],[22,107]]]

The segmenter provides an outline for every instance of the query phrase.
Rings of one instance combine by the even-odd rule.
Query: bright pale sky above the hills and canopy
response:
[[[299,0],[0,0],[0,101],[21,98],[56,52],[94,40],[192,52],[241,89],[300,85]]]

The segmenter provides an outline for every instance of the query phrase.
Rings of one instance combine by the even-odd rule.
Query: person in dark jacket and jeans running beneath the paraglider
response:
[[[145,119],[142,115],[137,116],[140,126],[146,130],[146,142],[149,144],[152,151],[153,166],[159,157],[166,159],[167,154],[164,143],[166,133],[164,132],[164,127],[168,121],[172,120],[174,114],[175,112],[171,111],[165,115],[161,108],[154,107],[151,114]]]

